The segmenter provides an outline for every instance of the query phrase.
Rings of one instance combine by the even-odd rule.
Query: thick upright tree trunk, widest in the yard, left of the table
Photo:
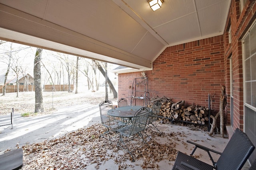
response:
[[[35,113],[44,112],[41,86],[41,59],[43,49],[37,48],[34,59]]]

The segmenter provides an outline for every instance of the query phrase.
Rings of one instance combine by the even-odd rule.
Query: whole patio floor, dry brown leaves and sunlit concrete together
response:
[[[220,152],[228,143],[227,136],[210,137],[206,131],[193,126],[156,123],[163,135],[153,135],[148,141],[150,147],[143,145],[138,149],[134,154],[135,162],[132,162],[125,150],[110,145],[105,138],[99,138],[105,129],[100,124],[98,105],[62,107],[56,113],[36,117],[14,116],[13,129],[1,129],[0,150],[3,152],[22,147],[22,169],[66,167],[87,170],[165,170],[172,169],[178,150],[187,154],[192,152],[194,146],[186,143],[186,140]],[[147,130],[146,133],[152,131]],[[197,149],[194,155],[211,164],[205,151]],[[218,160],[218,157],[213,154],[214,160]],[[249,167],[247,163],[243,169]]]

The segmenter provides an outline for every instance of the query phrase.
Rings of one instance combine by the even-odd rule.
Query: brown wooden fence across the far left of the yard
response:
[[[19,85],[19,92],[34,92],[35,88],[34,85],[28,85],[28,90],[26,90],[26,86],[25,85]],[[70,85],[71,91],[74,90],[74,84]],[[3,86],[0,86],[0,92],[3,93]],[[56,92],[60,92],[60,91],[68,91],[68,85],[66,84],[60,84],[60,85],[55,85],[55,90]],[[44,85],[44,92],[52,92],[52,85]],[[17,86],[16,85],[6,85],[6,93],[14,93],[17,92]]]

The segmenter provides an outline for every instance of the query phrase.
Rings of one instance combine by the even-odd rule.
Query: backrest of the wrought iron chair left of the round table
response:
[[[113,109],[113,103],[109,100],[100,102],[100,119],[102,124],[106,124],[110,120],[110,116],[107,114],[109,109]]]

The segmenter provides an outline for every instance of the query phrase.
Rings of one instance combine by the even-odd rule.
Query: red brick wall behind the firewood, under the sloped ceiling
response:
[[[221,85],[225,84],[223,36],[167,47],[145,71],[150,97],[166,96],[174,102],[208,106],[218,110]],[[141,72],[118,74],[118,98],[131,95],[133,79]]]

